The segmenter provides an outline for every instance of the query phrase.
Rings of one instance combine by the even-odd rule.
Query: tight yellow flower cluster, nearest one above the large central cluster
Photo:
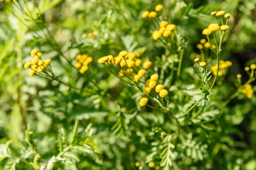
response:
[[[167,21],[161,21],[159,24],[159,30],[155,30],[152,34],[154,40],[157,40],[163,35],[163,37],[168,37],[171,32],[176,28],[176,25],[169,24]]]

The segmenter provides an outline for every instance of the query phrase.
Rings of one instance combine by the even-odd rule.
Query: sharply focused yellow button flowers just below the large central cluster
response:
[[[150,93],[151,89],[155,88],[155,92],[159,93],[160,97],[166,97],[168,95],[168,91],[164,89],[164,85],[159,84],[157,82],[159,76],[158,74],[152,74],[150,76],[150,79],[146,81],[146,87],[143,90],[144,94]],[[148,98],[141,98],[139,100],[139,105],[140,106],[145,106],[148,102]]]

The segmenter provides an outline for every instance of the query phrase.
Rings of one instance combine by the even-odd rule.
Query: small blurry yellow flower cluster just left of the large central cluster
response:
[[[83,74],[88,70],[88,64],[92,62],[93,58],[88,54],[77,54],[75,59],[75,68],[79,69],[79,72]]]

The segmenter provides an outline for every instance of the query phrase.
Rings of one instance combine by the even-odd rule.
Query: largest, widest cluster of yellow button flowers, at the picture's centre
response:
[[[133,68],[139,67],[142,64],[142,60],[139,59],[139,57],[141,56],[140,52],[127,52],[127,51],[121,51],[119,52],[119,55],[117,55],[116,57],[113,57],[112,55],[108,55],[108,56],[104,56],[101,57],[98,60],[98,63],[100,64],[104,64],[106,62],[108,62],[109,64],[119,64],[121,66],[120,70],[119,70],[119,76],[130,76],[133,73]],[[137,74],[135,74],[134,77],[134,81],[137,83],[141,77],[146,75],[146,70],[152,66],[152,62],[151,61],[145,61],[143,63],[143,68],[144,69],[140,69]]]

